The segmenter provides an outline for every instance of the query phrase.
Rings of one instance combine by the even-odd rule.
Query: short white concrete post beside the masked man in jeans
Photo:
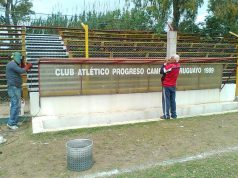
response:
[[[30,92],[30,112],[32,116],[36,116],[40,112],[39,92]]]

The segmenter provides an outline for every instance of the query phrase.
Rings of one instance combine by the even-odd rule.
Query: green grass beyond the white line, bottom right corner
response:
[[[202,177],[202,178],[236,178],[238,177],[238,153],[231,152],[216,155],[210,158],[175,163],[168,166],[156,166],[154,168],[122,174],[117,178],[160,178],[160,177]]]

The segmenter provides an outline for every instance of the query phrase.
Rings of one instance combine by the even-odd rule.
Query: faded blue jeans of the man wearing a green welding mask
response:
[[[10,117],[7,124],[10,126],[17,125],[18,115],[21,109],[21,88],[8,86],[7,92],[10,97]]]

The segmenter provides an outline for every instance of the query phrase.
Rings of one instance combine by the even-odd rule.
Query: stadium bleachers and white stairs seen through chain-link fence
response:
[[[5,79],[5,66],[12,52],[19,51],[34,67],[24,77],[23,97],[28,101],[28,90],[38,90],[38,60],[42,57],[85,57],[83,29],[62,27],[32,27],[0,25],[0,110],[9,113]],[[166,34],[146,31],[89,30],[89,57],[91,58],[165,58]],[[223,85],[236,82],[238,40],[234,37],[206,39],[196,34],[179,34],[177,52],[187,62],[209,62],[223,64]],[[200,60],[199,60],[200,59]],[[67,59],[66,59],[67,60]],[[5,112],[6,111],[6,112]]]

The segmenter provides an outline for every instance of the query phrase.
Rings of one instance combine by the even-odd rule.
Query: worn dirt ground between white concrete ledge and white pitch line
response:
[[[237,146],[237,114],[37,135],[32,135],[30,122],[17,132],[2,125],[7,143],[0,145],[0,177],[80,177]],[[94,142],[95,163],[87,171],[67,170],[65,143],[76,138]]]

